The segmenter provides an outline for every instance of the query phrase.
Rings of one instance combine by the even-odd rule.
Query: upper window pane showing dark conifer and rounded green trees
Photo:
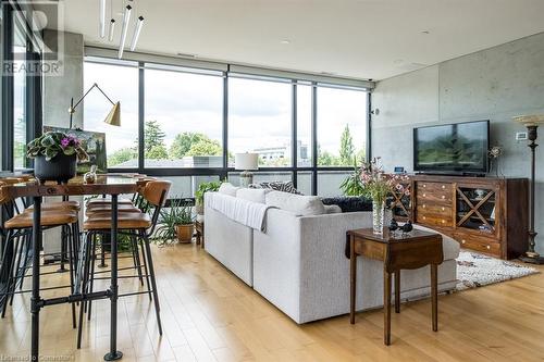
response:
[[[222,167],[223,78],[181,71],[145,71],[145,166]]]

